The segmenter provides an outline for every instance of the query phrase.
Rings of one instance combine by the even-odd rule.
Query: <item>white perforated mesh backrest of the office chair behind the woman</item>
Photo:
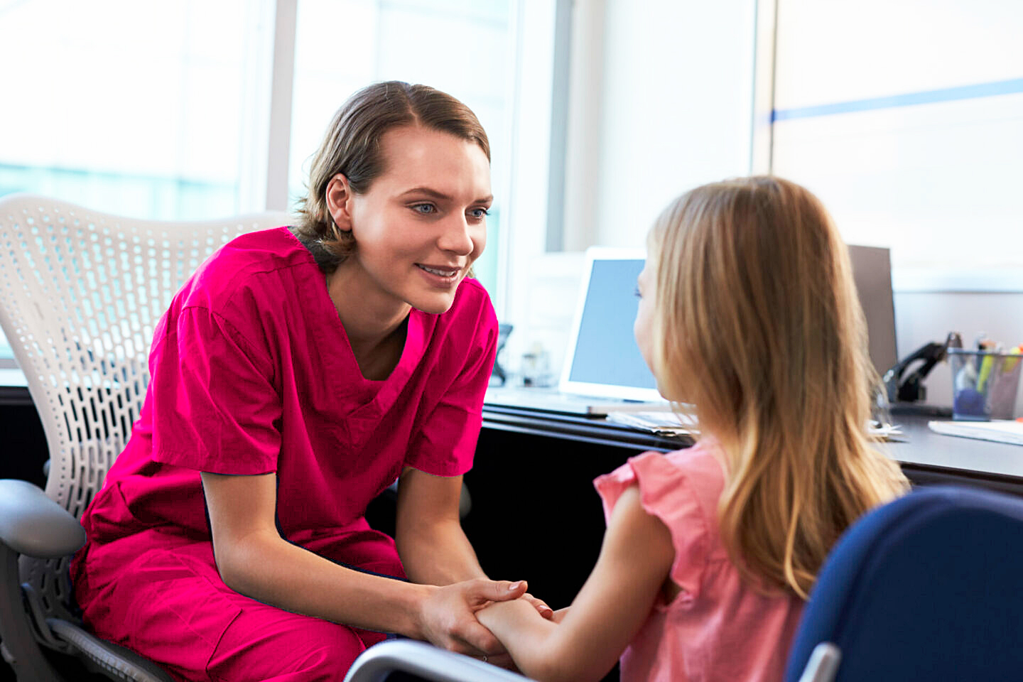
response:
[[[174,293],[233,237],[286,224],[285,213],[170,222],[0,199],[0,326],[46,434],[46,494],[76,518],[139,415],[153,327]],[[23,580],[57,613],[65,567],[21,557]]]

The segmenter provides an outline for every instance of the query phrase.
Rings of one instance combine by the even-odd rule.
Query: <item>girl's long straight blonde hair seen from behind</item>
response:
[[[813,194],[769,176],[683,194],[650,242],[654,370],[725,453],[722,541],[747,578],[805,599],[842,531],[907,489],[865,430],[847,249]]]

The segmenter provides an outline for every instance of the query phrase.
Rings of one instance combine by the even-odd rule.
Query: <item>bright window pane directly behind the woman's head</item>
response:
[[[494,204],[475,270],[494,295],[511,149],[511,0],[300,0],[288,193],[305,195],[309,158],[344,100],[374,81],[422,83],[463,101],[491,146]]]

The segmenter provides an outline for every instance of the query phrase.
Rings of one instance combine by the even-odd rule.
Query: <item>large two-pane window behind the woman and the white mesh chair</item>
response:
[[[34,192],[165,220],[257,212],[271,200],[280,208],[276,197],[285,193],[291,208],[349,95],[380,80],[426,83],[472,107],[490,138],[495,203],[476,272],[500,310],[513,138],[535,137],[513,111],[525,99],[534,116],[543,96],[532,90],[549,98],[550,87],[534,85],[535,64],[524,72],[518,63],[524,41],[546,39],[535,30],[521,38],[522,18],[547,13],[547,4],[0,3],[0,63],[18,64],[4,71],[0,195]],[[536,55],[532,49],[531,64]],[[290,122],[272,118],[281,107]],[[286,165],[286,174],[271,174],[270,164]],[[0,336],[0,359],[10,357]]]

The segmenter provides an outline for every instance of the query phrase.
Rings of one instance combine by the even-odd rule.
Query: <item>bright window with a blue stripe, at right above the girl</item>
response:
[[[772,172],[896,268],[1018,269],[1021,31],[1015,0],[777,0]]]

